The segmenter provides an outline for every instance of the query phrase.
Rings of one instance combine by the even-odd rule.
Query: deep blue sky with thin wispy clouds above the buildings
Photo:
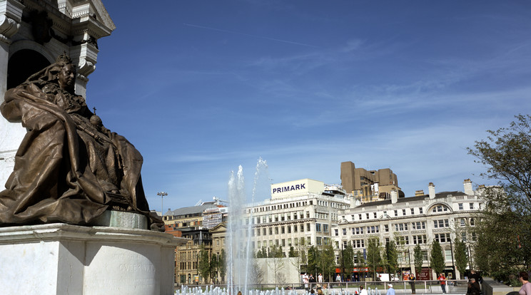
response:
[[[466,148],[531,113],[529,1],[104,1],[87,103],[144,157],[152,209],[390,167],[406,196],[487,183]],[[258,192],[257,199],[268,196]]]

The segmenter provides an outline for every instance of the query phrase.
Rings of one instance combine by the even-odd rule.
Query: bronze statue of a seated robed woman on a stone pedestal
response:
[[[74,93],[75,80],[76,68],[63,54],[7,90],[0,111],[27,133],[0,192],[0,224],[89,224],[118,209],[145,214],[152,229],[163,228],[149,214],[140,152],[103,126]]]

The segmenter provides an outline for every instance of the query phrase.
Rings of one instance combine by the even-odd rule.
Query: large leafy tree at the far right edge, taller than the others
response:
[[[487,202],[478,216],[475,264],[495,279],[531,266],[531,116],[517,115],[508,128],[476,141],[468,153],[485,165],[481,176],[497,180],[482,189]]]

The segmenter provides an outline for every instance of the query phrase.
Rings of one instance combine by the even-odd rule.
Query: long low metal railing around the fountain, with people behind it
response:
[[[411,284],[413,283],[413,284]],[[323,284],[310,283],[308,289],[305,289],[305,284],[251,284],[248,289],[252,290],[274,290],[278,289],[293,289],[298,294],[305,294],[305,291],[310,289],[322,288],[324,294],[330,294],[332,290],[335,294],[338,291],[348,291],[350,294],[355,294],[355,291],[360,292],[360,286],[363,286],[365,290],[378,289],[380,294],[385,294],[388,289],[388,284],[393,284],[396,294],[442,294],[442,288],[439,281],[348,281],[348,282],[325,282]],[[226,288],[226,284],[208,284],[208,285],[188,285],[188,286],[200,286],[206,289],[206,286],[219,286],[221,289]],[[413,289],[414,286],[414,289]],[[180,289],[181,285],[176,285],[176,289]],[[466,294],[467,293],[467,280],[448,280],[445,284],[445,291],[448,294]],[[413,293],[415,290],[415,293]],[[315,292],[317,293],[317,292]]]

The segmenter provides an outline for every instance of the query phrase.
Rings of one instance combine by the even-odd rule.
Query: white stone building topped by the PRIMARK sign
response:
[[[255,251],[275,244],[288,257],[290,246],[297,246],[302,238],[308,245],[329,244],[338,210],[349,206],[348,195],[340,187],[303,179],[271,185],[271,198],[247,207],[244,218],[253,224]]]

